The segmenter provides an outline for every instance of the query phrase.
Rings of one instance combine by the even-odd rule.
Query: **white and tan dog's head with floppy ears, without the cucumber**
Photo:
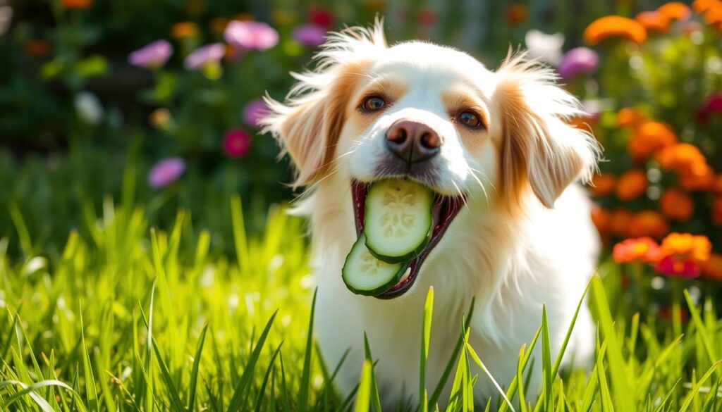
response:
[[[295,163],[295,184],[341,176],[359,203],[368,183],[404,177],[438,195],[430,245],[386,297],[409,289],[469,199],[474,208],[513,216],[523,195],[534,193],[552,208],[567,185],[596,167],[596,141],[567,124],[582,114],[578,100],[523,54],[490,71],[453,48],[388,47],[377,22],[331,33],[316,58],[315,70],[293,74],[298,83],[286,102],[267,99],[271,113],[263,120]]]

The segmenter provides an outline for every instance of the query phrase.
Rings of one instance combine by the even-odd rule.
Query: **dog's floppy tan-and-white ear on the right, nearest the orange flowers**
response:
[[[552,208],[567,185],[591,178],[601,148],[591,133],[567,124],[584,113],[551,69],[521,54],[508,56],[496,76],[492,101],[502,128],[500,175],[508,201],[518,203],[528,182]]]

